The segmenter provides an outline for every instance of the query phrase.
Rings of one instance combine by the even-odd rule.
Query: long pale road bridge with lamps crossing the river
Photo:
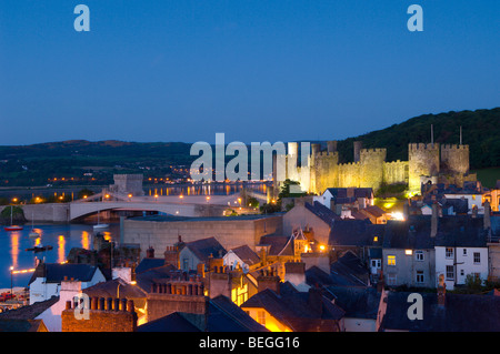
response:
[[[261,203],[266,195],[251,193]],[[239,193],[230,195],[132,196],[112,192],[97,193],[69,203],[68,219],[74,220],[103,211],[153,211],[179,216],[222,216],[228,210],[251,213]]]

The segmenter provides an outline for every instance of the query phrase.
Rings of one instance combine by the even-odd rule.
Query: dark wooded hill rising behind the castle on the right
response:
[[[462,143],[469,145],[471,170],[500,166],[500,108],[424,114],[339,141],[337,149],[341,162],[353,160],[357,140],[363,142],[363,148],[387,148],[387,161],[407,161],[409,143],[431,142],[431,124],[434,142],[443,144],[459,144],[462,127]]]

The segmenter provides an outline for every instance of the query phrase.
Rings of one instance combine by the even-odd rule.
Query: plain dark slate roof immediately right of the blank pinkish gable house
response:
[[[329,245],[370,246],[373,237],[383,237],[384,224],[372,224],[369,220],[344,219],[336,221],[330,231]]]

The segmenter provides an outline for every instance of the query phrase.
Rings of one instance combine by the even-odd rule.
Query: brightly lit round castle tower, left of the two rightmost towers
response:
[[[437,176],[440,171],[438,143],[410,143],[408,146],[409,189],[420,192],[420,178]]]

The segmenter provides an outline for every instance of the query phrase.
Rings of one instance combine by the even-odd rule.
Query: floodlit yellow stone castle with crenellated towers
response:
[[[421,183],[448,183],[462,186],[464,181],[476,181],[469,173],[469,145],[439,143],[410,143],[408,161],[386,161],[387,149],[362,149],[361,141],[354,141],[354,161],[339,163],[337,141],[328,141],[327,150],[321,144],[311,144],[308,161],[297,169],[299,153],[297,142],[288,143],[286,155],[286,179],[300,182],[301,190],[322,194],[328,188],[372,188],[383,184],[407,184],[409,192],[419,193]],[[290,170],[290,171],[289,171]],[[273,169],[273,180],[277,181]],[[282,182],[276,183],[279,191]]]

